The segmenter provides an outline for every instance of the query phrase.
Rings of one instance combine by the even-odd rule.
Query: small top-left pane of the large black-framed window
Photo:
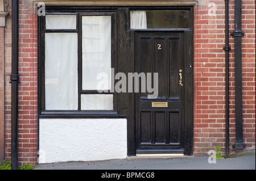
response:
[[[76,15],[46,15],[46,29],[76,29]]]

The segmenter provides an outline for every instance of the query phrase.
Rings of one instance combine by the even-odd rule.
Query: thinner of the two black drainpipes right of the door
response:
[[[226,155],[229,154],[229,0],[225,0],[225,47],[226,52]]]

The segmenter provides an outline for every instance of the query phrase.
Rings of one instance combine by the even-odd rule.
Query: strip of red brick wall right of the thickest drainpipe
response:
[[[242,30],[243,137],[250,147],[255,146],[255,1],[242,1]]]

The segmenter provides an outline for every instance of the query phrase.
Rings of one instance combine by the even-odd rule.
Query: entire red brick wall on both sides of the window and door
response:
[[[194,154],[214,145],[225,147],[225,1],[200,1],[195,6]],[[207,3],[205,3],[207,2]],[[230,32],[234,30],[234,0],[230,0]],[[11,1],[9,1],[11,3]],[[28,3],[28,4],[26,4]],[[210,4],[209,4],[210,3]],[[208,7],[208,5],[210,5]],[[216,11],[214,7],[216,6]],[[36,164],[37,17],[32,1],[20,1],[19,15],[19,165]],[[9,6],[9,12],[11,5]],[[243,137],[255,147],[255,1],[242,1]],[[210,11],[209,11],[210,10]],[[234,41],[230,47],[230,145],[236,141],[234,110]],[[11,157],[11,16],[5,28],[6,159]]]

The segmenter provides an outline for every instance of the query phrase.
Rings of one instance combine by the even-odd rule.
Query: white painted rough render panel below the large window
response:
[[[40,119],[39,163],[127,157],[126,119]]]

